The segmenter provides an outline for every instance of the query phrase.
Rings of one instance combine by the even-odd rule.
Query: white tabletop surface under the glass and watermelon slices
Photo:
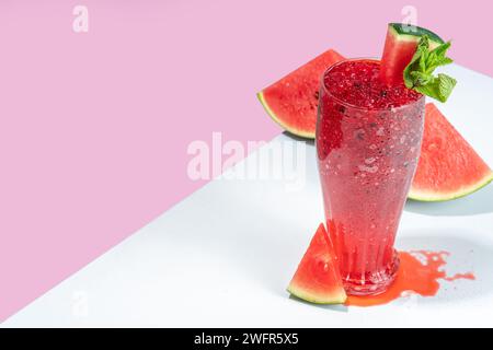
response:
[[[439,108],[493,165],[493,80],[447,70],[459,85]],[[408,202],[398,235],[401,249],[449,250],[447,271],[472,270],[475,281],[374,307],[290,299],[285,288],[323,220],[312,144],[306,164],[303,190],[279,179],[210,182],[2,326],[493,326],[493,185],[456,201]]]

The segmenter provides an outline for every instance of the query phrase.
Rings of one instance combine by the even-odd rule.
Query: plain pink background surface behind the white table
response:
[[[273,138],[255,92],[331,47],[378,56],[408,3],[2,0],[0,320],[203,185],[191,141]],[[493,75],[493,5],[458,3],[411,4]]]

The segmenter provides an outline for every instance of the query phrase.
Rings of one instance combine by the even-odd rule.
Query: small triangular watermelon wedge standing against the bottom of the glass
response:
[[[316,304],[341,304],[346,301],[337,260],[323,224],[311,240],[287,290]]]

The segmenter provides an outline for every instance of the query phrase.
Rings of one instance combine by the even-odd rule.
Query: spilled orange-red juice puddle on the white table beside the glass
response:
[[[419,254],[425,258],[423,264],[419,258],[412,254]],[[401,259],[395,281],[382,294],[371,296],[354,296],[348,295],[345,302],[347,306],[375,306],[390,303],[391,301],[401,298],[403,292],[411,292],[422,296],[434,296],[438,292],[440,284],[439,279],[446,281],[455,281],[458,279],[474,280],[472,272],[457,273],[447,276],[445,271],[440,270],[447,261],[445,258],[449,255],[448,252],[400,252]]]

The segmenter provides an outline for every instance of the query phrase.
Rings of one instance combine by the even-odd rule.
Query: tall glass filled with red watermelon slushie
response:
[[[383,292],[399,266],[393,248],[416,168],[425,98],[387,85],[380,61],[345,60],[323,75],[317,153],[329,234],[346,292]]]

